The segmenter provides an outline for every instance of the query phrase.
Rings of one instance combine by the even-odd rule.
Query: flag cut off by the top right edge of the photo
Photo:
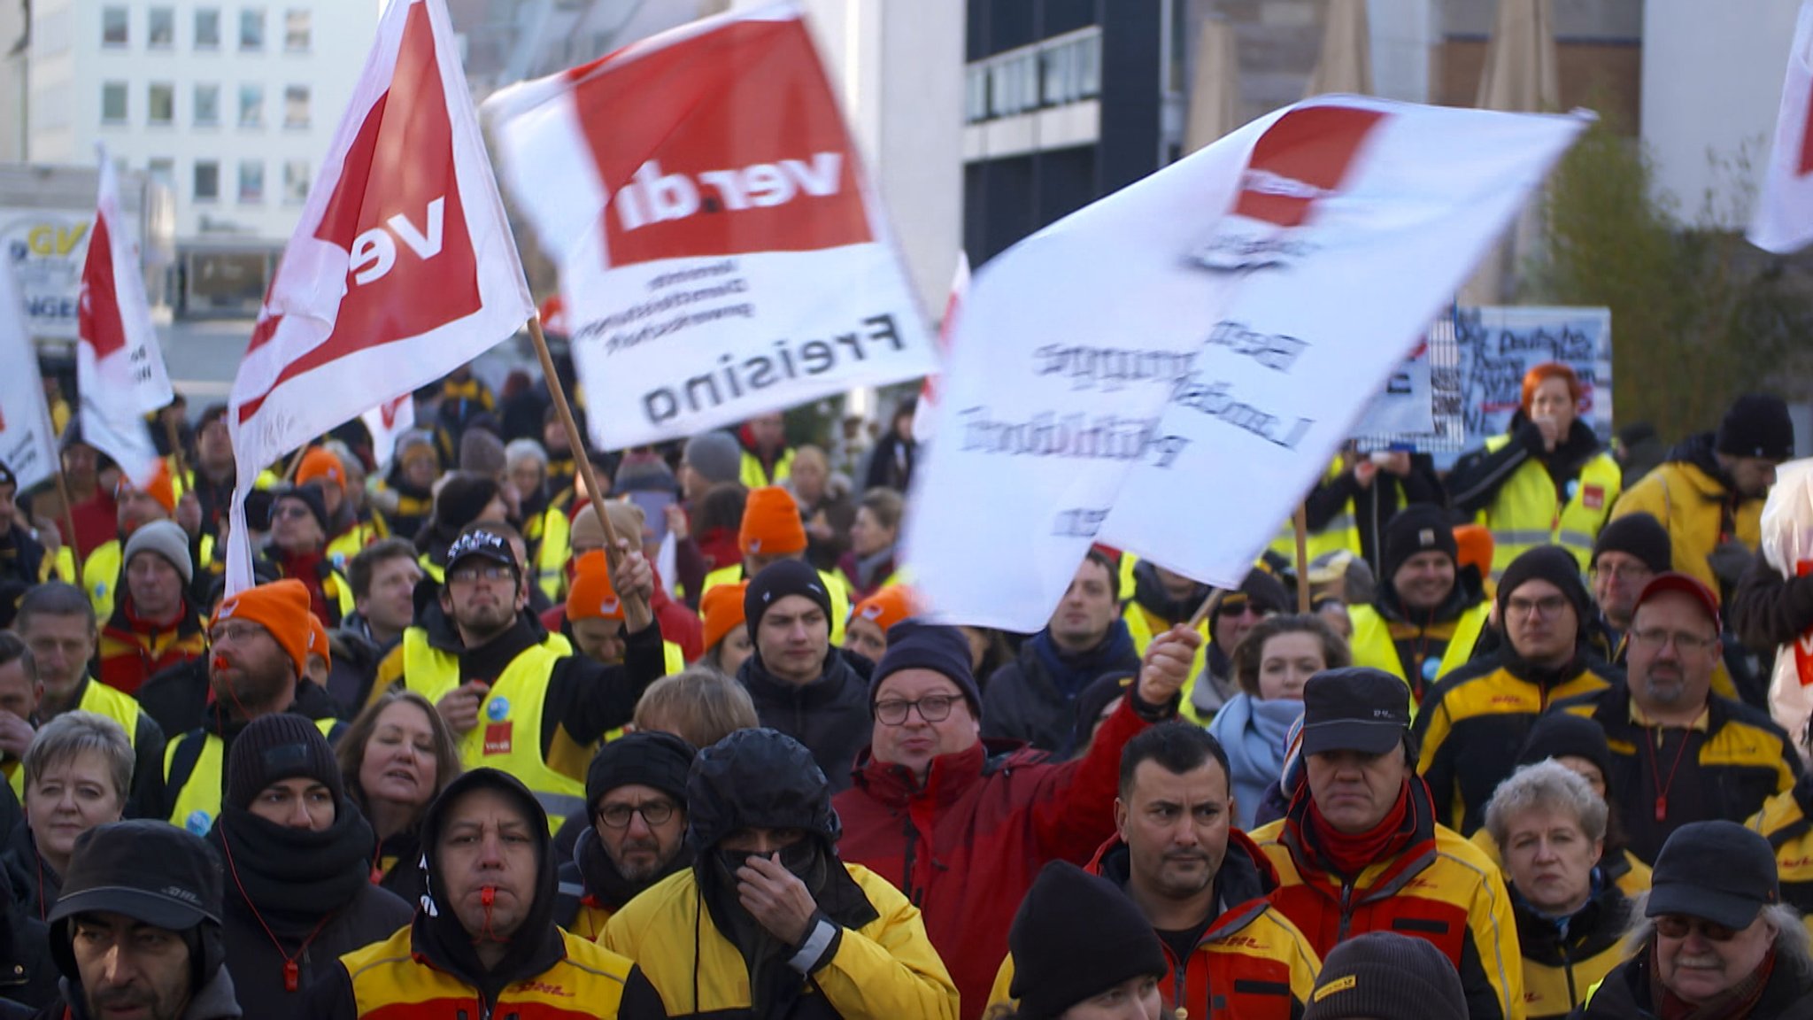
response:
[[[1813,241],[1813,0],[1802,0],[1788,51],[1775,149],[1764,169],[1750,243],[1789,254]]]

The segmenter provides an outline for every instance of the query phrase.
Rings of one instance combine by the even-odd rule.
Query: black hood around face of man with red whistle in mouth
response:
[[[446,826],[446,813],[466,793],[473,790],[495,790],[522,806],[529,819],[529,831],[535,833],[535,900],[529,913],[517,927],[509,949],[497,969],[486,971],[473,949],[473,938],[461,926],[451,909],[442,909],[439,900],[446,898],[441,888],[441,875],[435,869],[435,846],[441,842],[441,829]],[[428,891],[422,895],[421,909],[415,913],[412,946],[428,956],[437,967],[479,987],[488,1002],[497,1002],[499,993],[509,984],[528,980],[555,966],[564,955],[560,929],[555,927],[555,897],[560,886],[555,864],[553,839],[548,835],[548,811],[542,809],[529,788],[517,777],[480,768],[455,779],[435,797],[422,817],[422,873]]]

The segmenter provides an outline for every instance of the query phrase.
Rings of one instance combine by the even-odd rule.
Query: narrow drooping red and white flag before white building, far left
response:
[[[145,486],[158,474],[145,416],[170,403],[170,376],[150,323],[138,245],[120,212],[120,176],[103,147],[96,145],[96,154],[100,198],[76,307],[82,437],[112,457],[132,485]]]

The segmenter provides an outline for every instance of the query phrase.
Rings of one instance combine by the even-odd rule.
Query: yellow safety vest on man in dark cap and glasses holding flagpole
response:
[[[479,710],[479,724],[459,739],[459,760],[466,770],[497,768],[515,775],[548,809],[555,829],[567,815],[586,806],[586,784],[542,760],[542,706],[548,677],[558,659],[573,653],[566,637],[522,650],[504,673],[491,681]],[[421,628],[402,632],[402,681],[430,702],[459,686],[459,659],[428,644]],[[520,726],[520,730],[519,730]]]

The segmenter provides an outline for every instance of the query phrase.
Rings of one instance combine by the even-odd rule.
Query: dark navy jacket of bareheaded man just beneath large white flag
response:
[[[1050,626],[1041,630],[983,686],[983,737],[1068,755],[1077,695],[1108,673],[1139,673],[1139,652],[1124,619],[1115,619],[1095,648],[1077,655],[1059,652]]]

